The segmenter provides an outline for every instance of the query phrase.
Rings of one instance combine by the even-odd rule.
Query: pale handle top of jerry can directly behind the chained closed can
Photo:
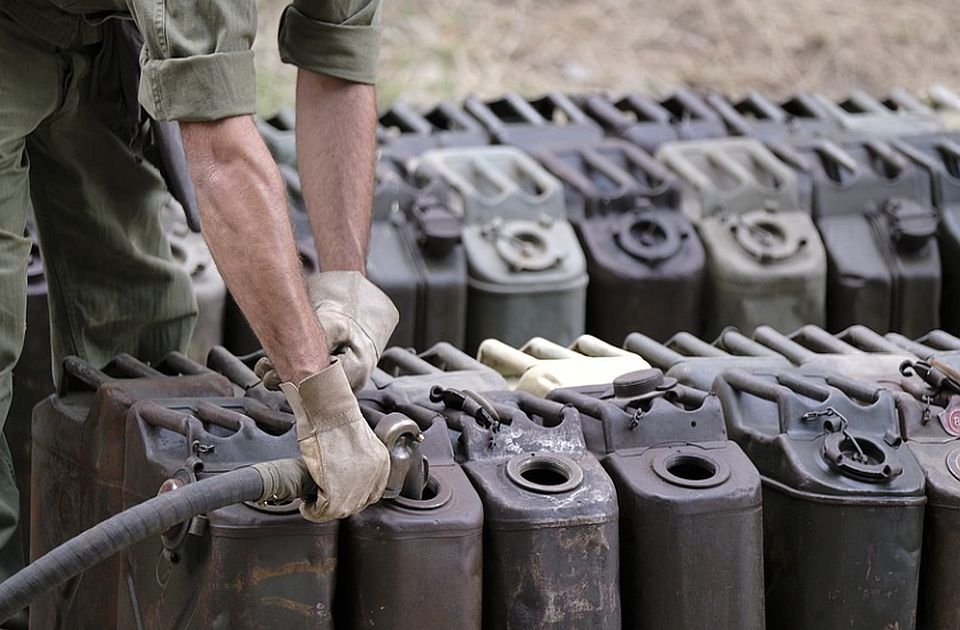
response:
[[[810,371],[836,372],[858,380],[896,378],[900,364],[912,358],[909,352],[884,346],[883,352],[858,348],[850,341],[865,340],[865,327],[851,327],[847,335],[831,335],[819,326],[803,326],[784,335],[770,326],[758,326],[753,339]],[[850,329],[848,329],[849,331]],[[882,339],[882,338],[881,338]],[[870,337],[874,345],[876,340]]]

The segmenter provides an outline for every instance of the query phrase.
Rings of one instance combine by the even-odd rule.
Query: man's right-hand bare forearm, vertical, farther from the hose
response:
[[[373,86],[300,70],[297,165],[323,271],[366,271],[376,121]]]

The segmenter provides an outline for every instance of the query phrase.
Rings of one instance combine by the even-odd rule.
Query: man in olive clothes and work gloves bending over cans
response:
[[[31,210],[55,366],[68,354],[95,365],[118,352],[155,360],[190,334],[195,299],[158,218],[168,193],[103,96],[109,19],[131,15],[145,41],[140,103],[181,122],[203,233],[272,361],[265,380],[282,382],[297,417],[319,488],[303,513],[357,512],[382,494],[389,462],[351,388],[366,381],[397,320],[363,276],[379,0],[293,0],[280,28],[281,55],[299,67],[298,163],[323,269],[314,305],[281,177],[251,116],[254,0],[0,0],[0,419],[24,337]],[[3,578],[17,547],[5,442],[0,461]]]

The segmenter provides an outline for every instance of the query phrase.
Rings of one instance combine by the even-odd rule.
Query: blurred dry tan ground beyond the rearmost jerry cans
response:
[[[260,0],[260,109],[291,102],[285,0]],[[383,0],[379,98],[679,85],[779,96],[960,87],[956,0]]]

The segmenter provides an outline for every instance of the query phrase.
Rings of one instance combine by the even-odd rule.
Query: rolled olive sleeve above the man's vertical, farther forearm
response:
[[[357,83],[376,83],[380,0],[293,0],[280,22],[280,58]]]

